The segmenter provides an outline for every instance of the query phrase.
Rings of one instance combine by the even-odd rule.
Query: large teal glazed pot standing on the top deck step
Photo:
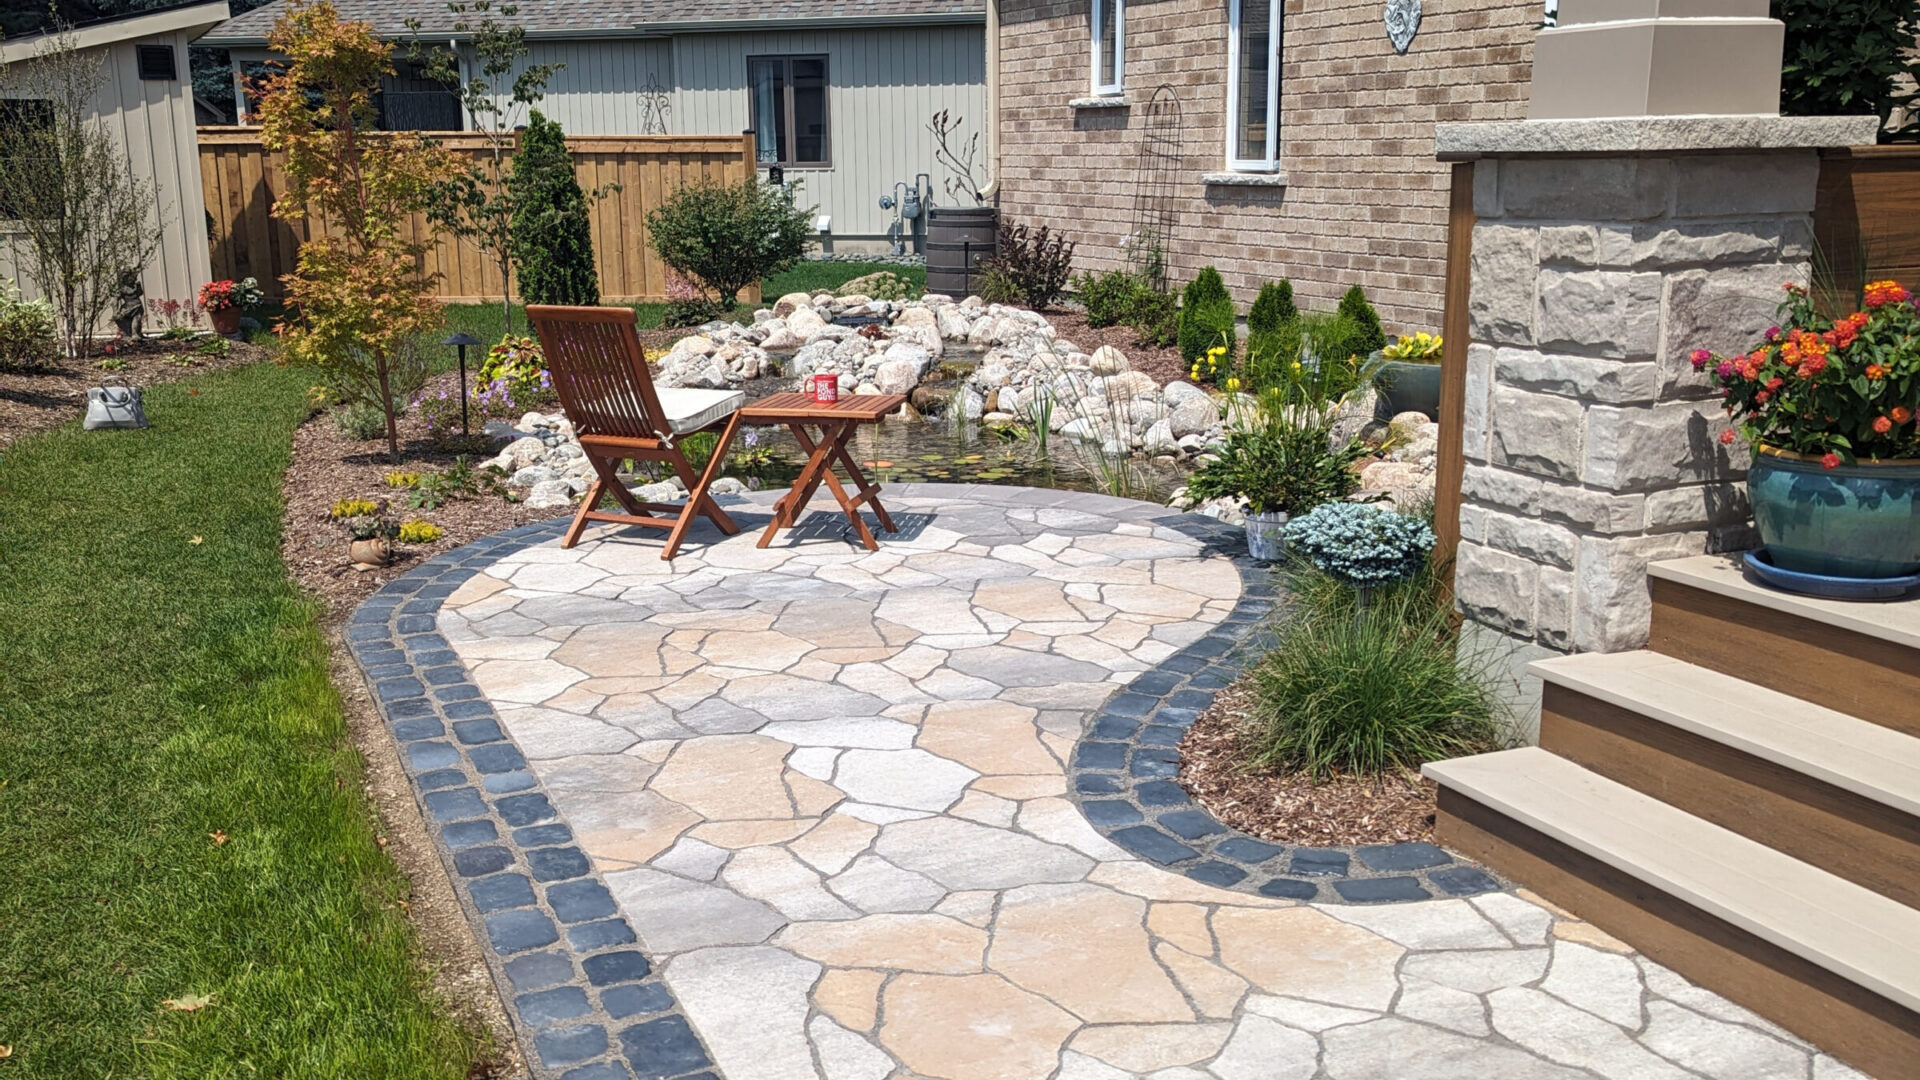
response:
[[[1826,469],[1763,446],[1747,498],[1776,567],[1843,578],[1920,573],[1920,459]]]

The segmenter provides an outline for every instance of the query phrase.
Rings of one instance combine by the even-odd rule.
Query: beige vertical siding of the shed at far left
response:
[[[154,300],[188,300],[207,281],[207,221],[200,194],[200,152],[194,144],[194,90],[186,69],[184,33],[108,46],[106,85],[94,113],[127,148],[132,175],[154,181],[159,250],[146,265],[144,288]],[[169,44],[179,79],[142,81],[134,46]],[[0,252],[0,273],[19,277],[12,254]],[[21,281],[25,292],[33,286]]]

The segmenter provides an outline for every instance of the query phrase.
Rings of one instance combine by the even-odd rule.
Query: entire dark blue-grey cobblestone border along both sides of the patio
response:
[[[979,492],[1016,507],[1160,525],[1235,559],[1242,594],[1233,613],[1114,694],[1073,749],[1071,798],[1112,842],[1212,886],[1292,899],[1384,903],[1501,888],[1430,844],[1265,844],[1215,821],[1173,780],[1181,736],[1260,651],[1260,630],[1275,607],[1273,578],[1246,555],[1240,528],[1087,492],[891,488],[927,498]],[[482,951],[534,1076],[720,1080],[612,894],[574,846],[572,828],[438,630],[440,605],[461,582],[564,528],[566,519],[522,525],[420,563],[353,611],[348,644],[399,746],[461,905],[486,940]]]

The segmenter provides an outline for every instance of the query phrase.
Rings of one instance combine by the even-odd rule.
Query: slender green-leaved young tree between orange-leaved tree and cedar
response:
[[[428,213],[449,233],[480,248],[480,254],[499,269],[501,317],[511,332],[515,194],[509,161],[515,129],[524,110],[545,96],[547,81],[563,65],[522,63],[530,52],[526,29],[501,21],[520,12],[513,4],[495,8],[493,0],[453,0],[447,12],[453,13],[453,31],[470,38],[474,50],[470,77],[461,79],[459,60],[444,48],[428,48],[415,40],[409,52],[426,65],[428,77],[459,88],[468,125],[486,138],[486,148],[467,161],[465,169],[438,184]],[[407,19],[407,29],[419,37],[420,21]]]

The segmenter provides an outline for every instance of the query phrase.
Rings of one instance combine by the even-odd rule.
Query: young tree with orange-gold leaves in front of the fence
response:
[[[407,219],[459,163],[413,133],[374,131],[372,100],[394,65],[371,25],[342,21],[326,0],[292,0],[269,44],[286,58],[259,102],[261,142],[286,160],[288,190],[273,211],[311,221],[298,269],[282,279],[296,311],[280,327],[286,357],[378,405],[397,457],[396,419],[422,377],[413,338],[442,319]]]

